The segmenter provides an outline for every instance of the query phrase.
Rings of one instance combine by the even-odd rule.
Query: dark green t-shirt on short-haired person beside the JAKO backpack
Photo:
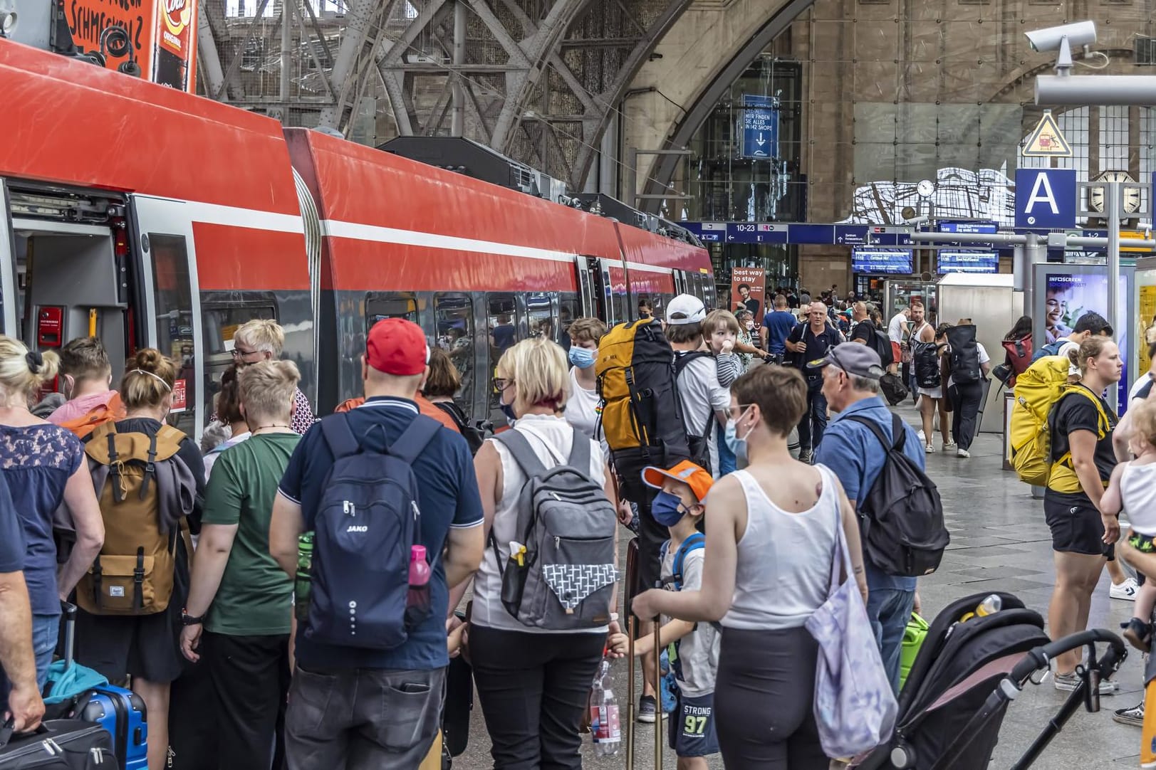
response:
[[[301,436],[255,435],[221,453],[205,492],[203,524],[236,524],[205,628],[231,636],[289,633],[292,582],[269,555],[269,519],[277,484]]]

